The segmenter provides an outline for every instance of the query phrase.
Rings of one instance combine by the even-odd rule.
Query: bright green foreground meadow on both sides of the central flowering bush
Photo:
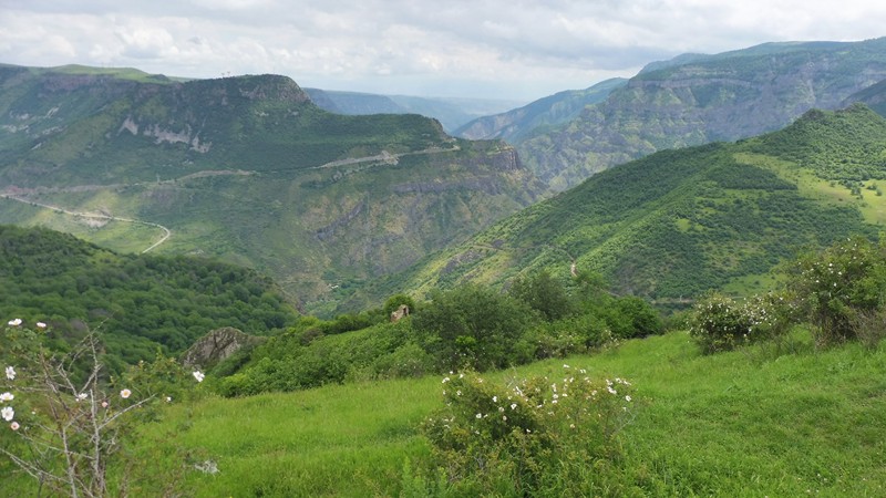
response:
[[[640,397],[616,464],[637,496],[882,496],[886,347],[814,351],[800,334],[702,356],[684,333],[490,374],[571,369],[629,378]],[[442,407],[437,377],[327,386],[172,406],[137,448],[196,496],[396,496],[406,459],[427,461],[418,424]],[[175,437],[169,437],[175,435]],[[218,474],[168,457],[184,448]],[[167,455],[166,459],[158,455]],[[150,495],[146,486],[140,492]]]

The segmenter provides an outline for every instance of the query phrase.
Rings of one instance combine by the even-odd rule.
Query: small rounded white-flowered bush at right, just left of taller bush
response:
[[[705,353],[729,351],[782,334],[795,314],[793,310],[793,300],[783,293],[734,301],[714,292],[696,303],[689,317],[689,334]]]

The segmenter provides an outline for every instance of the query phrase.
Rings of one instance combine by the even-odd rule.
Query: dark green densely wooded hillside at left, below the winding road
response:
[[[298,318],[270,279],[203,258],[119,255],[70,235],[0,225],[0,314],[55,339],[100,331],[109,361],[179,353],[222,326],[267,334]]]

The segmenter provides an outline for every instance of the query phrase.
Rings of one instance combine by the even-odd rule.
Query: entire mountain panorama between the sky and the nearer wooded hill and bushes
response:
[[[534,269],[681,302],[874,230],[885,85],[886,39],[767,43],[456,126],[483,108],[0,65],[0,222],[248,266],[320,314]]]

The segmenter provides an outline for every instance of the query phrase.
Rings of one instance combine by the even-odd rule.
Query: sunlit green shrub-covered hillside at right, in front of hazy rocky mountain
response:
[[[746,292],[805,247],[886,220],[886,120],[813,111],[739,143],[664,151],[595,175],[424,260],[393,288],[502,284],[546,269],[602,273],[619,292],[674,303]],[[761,282],[763,280],[763,282]]]

